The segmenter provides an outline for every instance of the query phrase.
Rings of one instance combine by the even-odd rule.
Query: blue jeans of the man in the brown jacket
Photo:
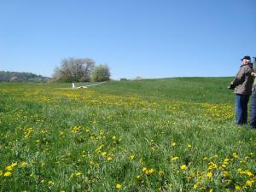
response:
[[[250,96],[236,94],[236,124],[247,124],[247,105]]]

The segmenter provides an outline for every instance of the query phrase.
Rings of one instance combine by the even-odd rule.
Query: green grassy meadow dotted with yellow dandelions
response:
[[[231,80],[2,83],[0,191],[255,191]]]

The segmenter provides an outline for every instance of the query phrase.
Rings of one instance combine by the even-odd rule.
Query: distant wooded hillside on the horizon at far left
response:
[[[49,78],[26,72],[0,71],[0,82],[47,82]]]

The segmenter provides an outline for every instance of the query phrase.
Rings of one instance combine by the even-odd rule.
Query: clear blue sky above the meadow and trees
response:
[[[0,2],[0,70],[50,76],[91,58],[112,78],[234,76],[256,55],[255,0]]]

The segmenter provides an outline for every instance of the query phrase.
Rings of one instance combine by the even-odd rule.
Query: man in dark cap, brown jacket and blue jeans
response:
[[[236,125],[247,124],[247,105],[252,94],[253,79],[251,57],[244,56],[241,59],[241,67],[236,78],[228,87],[235,90],[236,94]]]

